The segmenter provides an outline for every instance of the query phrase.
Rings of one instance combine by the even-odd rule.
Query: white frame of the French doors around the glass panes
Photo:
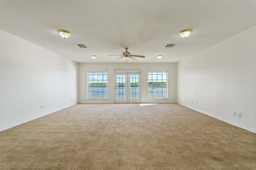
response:
[[[126,78],[125,78],[125,84],[126,84],[126,99],[117,99],[117,81],[116,81],[116,72],[121,71],[121,72],[126,72]],[[140,72],[139,77],[138,77],[138,83],[139,83],[139,87],[138,87],[138,99],[130,99],[130,72],[132,71],[138,71]],[[140,81],[140,75],[141,75],[141,71],[140,69],[115,69],[114,70],[114,96],[115,96],[115,103],[140,103],[141,102],[141,81]]]

